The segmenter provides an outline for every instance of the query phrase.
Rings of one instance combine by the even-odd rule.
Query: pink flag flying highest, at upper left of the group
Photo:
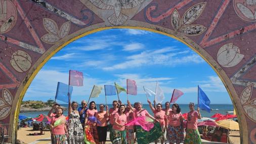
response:
[[[83,75],[82,72],[69,70],[69,85],[82,86]]]

